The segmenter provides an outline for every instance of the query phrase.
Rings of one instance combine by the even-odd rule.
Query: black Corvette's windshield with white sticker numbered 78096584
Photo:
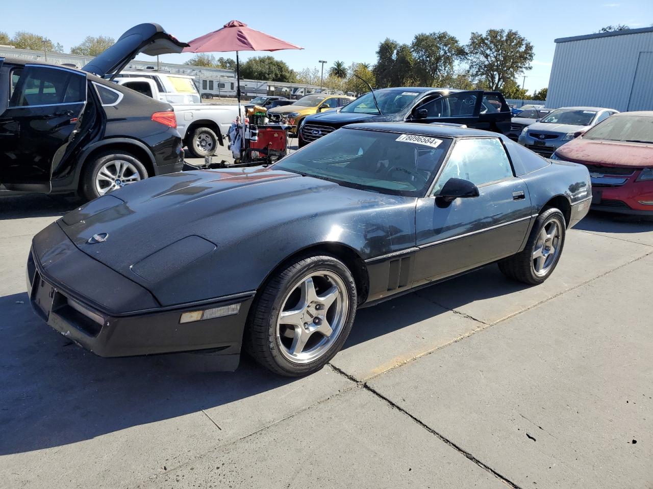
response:
[[[274,168],[372,192],[424,196],[450,138],[343,128],[313,141]]]

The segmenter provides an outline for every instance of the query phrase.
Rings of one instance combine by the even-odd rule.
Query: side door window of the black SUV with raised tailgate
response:
[[[28,66],[12,73],[10,107],[86,102],[86,75]]]

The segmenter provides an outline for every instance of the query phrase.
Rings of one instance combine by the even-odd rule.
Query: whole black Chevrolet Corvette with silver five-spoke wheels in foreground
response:
[[[172,173],[33,239],[31,303],[97,355],[241,347],[314,372],[358,307],[488,263],[539,284],[591,200],[584,166],[444,125],[351,125],[268,168]]]

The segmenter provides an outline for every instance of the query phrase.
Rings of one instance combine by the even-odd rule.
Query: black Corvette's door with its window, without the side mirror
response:
[[[471,181],[479,196],[443,203],[450,178]],[[430,195],[417,202],[415,285],[515,254],[526,237],[531,202],[499,138],[460,138]]]

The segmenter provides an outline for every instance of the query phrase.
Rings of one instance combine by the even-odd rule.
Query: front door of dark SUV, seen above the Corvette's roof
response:
[[[483,91],[470,90],[449,93],[418,102],[407,117],[408,122],[446,122],[473,125],[478,121]]]

